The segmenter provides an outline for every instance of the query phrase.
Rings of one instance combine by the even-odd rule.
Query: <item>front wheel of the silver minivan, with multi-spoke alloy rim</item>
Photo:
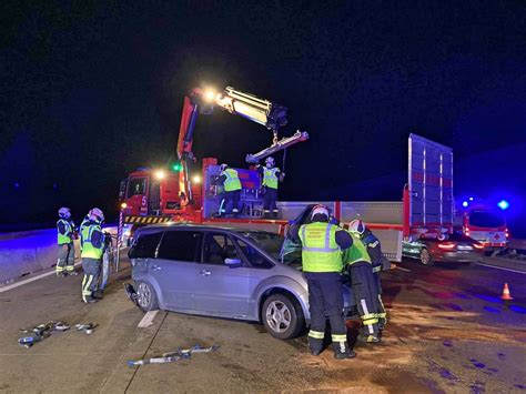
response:
[[[284,294],[269,296],[261,315],[266,332],[279,340],[295,337],[305,326],[302,307],[296,300]]]

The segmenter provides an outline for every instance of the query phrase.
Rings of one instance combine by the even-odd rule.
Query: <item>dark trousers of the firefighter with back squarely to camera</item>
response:
[[[343,293],[340,275],[334,273],[327,273],[326,277],[323,277],[323,275],[318,273],[316,279],[311,279],[308,274],[306,275],[311,332],[325,333],[325,322],[326,317],[328,317],[333,337],[335,335],[346,335],[347,330],[343,316]]]

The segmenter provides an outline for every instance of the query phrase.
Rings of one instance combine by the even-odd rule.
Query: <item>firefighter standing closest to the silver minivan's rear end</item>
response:
[[[101,265],[102,251],[104,249],[104,234],[101,223],[104,214],[98,208],[93,208],[89,215],[90,221],[82,228],[82,301],[85,303],[97,302],[93,292],[97,290]]]

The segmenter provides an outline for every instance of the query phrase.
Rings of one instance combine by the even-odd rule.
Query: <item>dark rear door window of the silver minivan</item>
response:
[[[165,231],[159,246],[158,259],[196,262],[202,239],[203,233],[199,231]]]

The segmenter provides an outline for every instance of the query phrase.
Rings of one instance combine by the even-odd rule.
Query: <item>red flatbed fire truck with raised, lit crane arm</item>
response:
[[[199,114],[211,114],[219,107],[264,125],[272,131],[270,148],[247,154],[247,169],[236,169],[242,183],[241,211],[236,219],[218,218],[222,201],[215,180],[220,165],[215,158],[204,158],[195,165],[193,130]],[[124,235],[133,229],[160,222],[190,222],[251,228],[284,234],[291,222],[307,220],[314,204],[325,204],[344,223],[361,218],[381,239],[391,261],[402,260],[402,240],[439,238],[453,231],[453,153],[451,148],[409,135],[408,181],[401,188],[399,201],[279,202],[279,216],[263,219],[261,179],[254,166],[261,159],[308,139],[297,131],[279,140],[279,130],[287,123],[286,108],[255,95],[226,88],[222,92],[194,89],[184,98],[178,141],[179,162],[174,169],[138,169],[121,182],[120,201],[125,215]],[[285,150],[286,152],[286,150]]]

